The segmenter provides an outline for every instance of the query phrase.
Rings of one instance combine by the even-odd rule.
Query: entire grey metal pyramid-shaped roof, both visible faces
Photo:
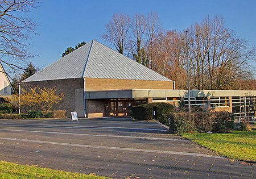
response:
[[[171,81],[104,44],[92,40],[23,82],[68,78]]]

